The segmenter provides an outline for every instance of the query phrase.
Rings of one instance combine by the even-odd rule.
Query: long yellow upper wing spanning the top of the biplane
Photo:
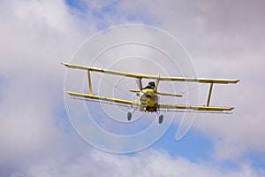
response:
[[[126,76],[131,78],[138,78],[138,79],[155,79],[159,81],[192,81],[192,82],[201,82],[201,83],[222,83],[222,84],[228,84],[228,83],[237,83],[239,80],[225,80],[225,79],[207,79],[207,78],[189,78],[189,77],[164,77],[159,75],[148,75],[148,74],[142,74],[142,73],[125,73],[125,72],[117,72],[112,71],[108,69],[102,69],[97,67],[88,67],[85,65],[72,65],[67,63],[62,63],[63,65],[73,68],[73,69],[81,69],[81,70],[87,70],[92,72],[99,72],[99,73],[109,73],[109,74],[115,74],[120,76]]]

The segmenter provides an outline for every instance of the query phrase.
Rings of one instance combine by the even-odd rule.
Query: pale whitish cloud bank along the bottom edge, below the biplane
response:
[[[91,150],[78,158],[48,159],[45,165],[32,165],[30,176],[261,176],[264,171],[242,163],[239,169],[223,169],[208,162],[191,162],[186,158],[171,158],[158,150],[144,150],[137,156],[125,156]],[[65,163],[66,162],[66,163]]]

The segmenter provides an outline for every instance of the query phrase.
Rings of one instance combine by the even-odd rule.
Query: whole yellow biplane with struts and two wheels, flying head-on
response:
[[[66,91],[72,97],[81,97],[91,100],[98,100],[109,103],[117,103],[117,104],[125,104],[128,106],[134,106],[133,112],[135,110],[140,110],[140,112],[156,112],[158,115],[159,124],[163,123],[163,115],[159,114],[159,111],[174,111],[174,110],[186,110],[191,112],[231,112],[233,107],[226,106],[211,106],[210,99],[212,94],[212,89],[214,84],[235,84],[239,80],[226,80],[226,79],[206,79],[206,78],[189,78],[189,77],[163,77],[158,75],[148,75],[142,73],[124,73],[118,71],[112,71],[108,69],[102,69],[97,67],[90,67],[85,65],[73,65],[68,63],[62,63],[68,68],[72,69],[80,69],[87,71],[88,78],[88,89],[89,94],[77,93],[72,91]],[[92,80],[91,73],[106,73],[106,74],[114,74],[117,76],[125,76],[129,78],[135,78],[139,82],[139,89],[130,89],[129,91],[136,93],[139,96],[138,101],[133,102],[125,99],[117,99],[114,97],[105,97],[105,96],[97,96],[93,94],[92,90]],[[149,81],[148,85],[143,87],[142,80],[153,80]],[[155,81],[154,81],[155,80]],[[208,99],[206,105],[186,105],[186,104],[160,104],[158,96],[178,96],[181,97],[181,94],[172,94],[158,91],[158,86],[160,81],[188,81],[188,82],[199,82],[199,83],[208,83],[209,91],[208,91]],[[127,112],[127,119],[131,120],[133,116],[133,112]]]

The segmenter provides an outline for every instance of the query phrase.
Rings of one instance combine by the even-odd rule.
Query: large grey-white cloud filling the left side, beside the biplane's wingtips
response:
[[[5,8],[4,8],[5,7]],[[64,68],[80,38],[63,1],[1,6],[0,157],[38,155],[60,141]]]

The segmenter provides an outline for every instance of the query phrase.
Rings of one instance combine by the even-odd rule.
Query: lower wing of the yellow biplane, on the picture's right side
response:
[[[219,106],[190,106],[190,105],[181,105],[181,104],[159,104],[159,109],[165,110],[192,110],[192,111],[204,111],[204,112],[230,112],[234,108],[233,107],[219,107]]]

